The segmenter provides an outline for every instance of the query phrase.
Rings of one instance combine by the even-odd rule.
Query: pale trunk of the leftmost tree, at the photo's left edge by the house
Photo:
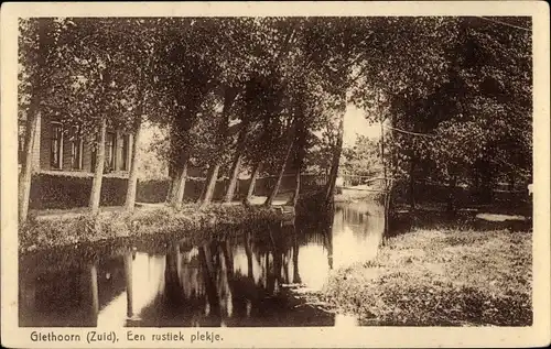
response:
[[[19,221],[24,222],[29,214],[29,200],[31,196],[31,182],[33,171],[33,149],[36,138],[36,128],[39,114],[35,109],[35,102],[31,103],[25,121],[25,143],[24,157],[19,175]]]

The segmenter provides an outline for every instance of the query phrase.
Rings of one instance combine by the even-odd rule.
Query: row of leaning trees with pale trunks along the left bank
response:
[[[233,199],[247,159],[253,176],[260,167],[280,174],[267,199],[270,205],[291,154],[296,154],[300,171],[304,151],[293,150],[305,149],[310,131],[328,120],[333,110],[344,109],[342,96],[331,90],[334,87],[326,78],[334,75],[335,64],[349,61],[349,47],[318,59],[316,47],[300,37],[301,30],[310,26],[303,34],[315,40],[320,24],[252,18],[22,20],[20,117],[26,120],[26,156],[20,178],[21,218],[28,211],[31,150],[40,113],[95,135],[93,212],[99,207],[108,127],[134,133],[126,199],[126,207],[133,208],[136,145],[145,119],[170,130],[165,155],[173,206],[182,204],[191,162],[208,166],[201,197],[205,206],[228,159],[230,185],[225,201]],[[237,141],[229,132],[236,122]]]

